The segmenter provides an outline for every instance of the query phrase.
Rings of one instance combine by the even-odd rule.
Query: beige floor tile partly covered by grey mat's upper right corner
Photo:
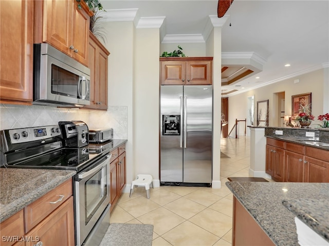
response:
[[[184,218],[165,208],[153,210],[152,212],[144,214],[137,219],[143,224],[153,224],[153,231],[159,236],[162,236],[163,233],[168,232],[178,226],[178,224],[185,221]]]

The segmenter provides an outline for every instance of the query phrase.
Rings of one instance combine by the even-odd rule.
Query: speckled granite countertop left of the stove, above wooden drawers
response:
[[[0,168],[0,222],[75,174],[69,170]]]

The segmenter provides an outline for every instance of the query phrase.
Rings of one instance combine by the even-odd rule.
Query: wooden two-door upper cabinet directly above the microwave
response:
[[[48,43],[88,66],[89,11],[84,1],[33,1],[34,43]]]

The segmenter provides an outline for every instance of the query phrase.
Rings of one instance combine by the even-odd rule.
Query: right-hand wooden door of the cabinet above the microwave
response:
[[[88,66],[88,49],[89,49],[89,15],[83,10],[78,8],[78,2],[74,1],[73,11],[73,36],[72,57],[80,61],[80,63]]]

